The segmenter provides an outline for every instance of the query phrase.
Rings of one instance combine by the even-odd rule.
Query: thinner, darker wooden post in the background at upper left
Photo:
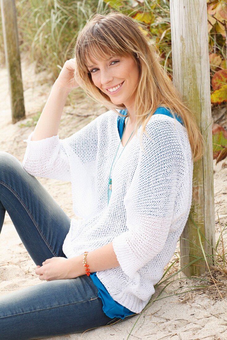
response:
[[[9,74],[12,122],[16,123],[25,118],[16,6],[14,0],[1,0],[0,3],[5,59]]]

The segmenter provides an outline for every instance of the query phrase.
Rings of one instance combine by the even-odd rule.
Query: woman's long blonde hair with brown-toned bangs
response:
[[[131,56],[139,69],[139,83],[135,95],[135,114],[137,133],[142,125],[141,136],[152,114],[158,106],[167,107],[173,114],[181,117],[187,129],[192,150],[192,159],[197,161],[203,154],[204,139],[196,124],[191,109],[181,99],[167,72],[160,64],[156,47],[152,44],[146,28],[135,20],[118,12],[95,14],[79,32],[74,48],[76,58],[75,77],[88,96],[113,109],[124,109],[124,104],[113,104],[107,94],[96,87],[86,63],[92,55],[100,60],[110,55]],[[146,132],[145,132],[146,133]]]

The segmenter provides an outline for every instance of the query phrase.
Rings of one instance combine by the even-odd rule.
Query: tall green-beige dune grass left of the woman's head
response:
[[[100,0],[16,0],[20,52],[29,52],[37,72],[47,70],[58,77],[72,57],[79,30],[93,12],[106,8]],[[5,62],[0,17],[0,63]]]

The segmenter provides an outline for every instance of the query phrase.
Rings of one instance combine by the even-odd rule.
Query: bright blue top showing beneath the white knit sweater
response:
[[[127,111],[126,110],[120,110],[120,114],[121,115],[127,115]],[[171,112],[167,108],[162,107],[162,106],[159,106],[153,114],[154,115],[155,114],[163,114],[163,115],[167,115],[167,116],[173,118]],[[180,116],[176,115],[176,119],[183,125],[183,122],[182,122]],[[120,138],[122,137],[122,134],[123,134],[123,131],[124,131],[124,123],[125,123],[125,117],[118,116],[117,117],[117,128],[118,128]],[[120,305],[118,302],[116,302],[112,298],[112,296],[108,293],[106,287],[101,283],[101,281],[97,277],[96,272],[91,273],[90,277],[91,277],[94,285],[98,288],[98,296],[102,300],[102,304],[103,304],[102,310],[109,318],[125,319],[126,316],[129,316],[131,314],[135,314],[134,312],[132,312],[128,308]]]

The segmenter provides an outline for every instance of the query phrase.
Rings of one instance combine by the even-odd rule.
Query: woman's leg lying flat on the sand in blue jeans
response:
[[[0,340],[80,333],[115,319],[103,312],[98,290],[86,275],[44,282],[0,297]]]

